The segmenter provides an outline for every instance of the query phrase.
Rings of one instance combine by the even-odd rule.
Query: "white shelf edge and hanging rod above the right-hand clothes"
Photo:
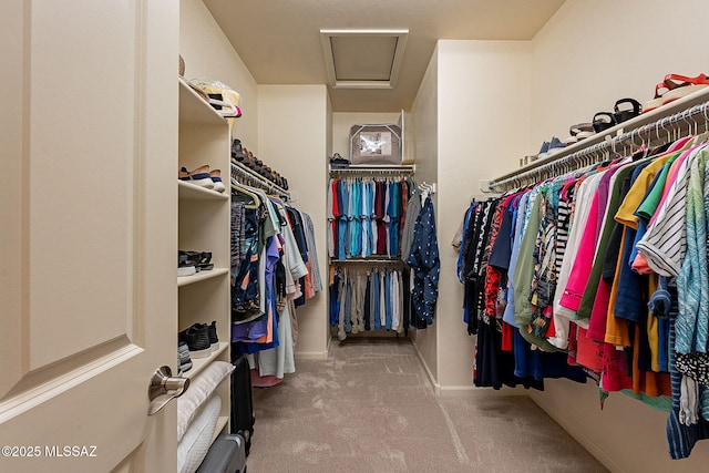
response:
[[[615,151],[616,146],[640,138],[643,142],[656,142],[682,125],[696,125],[693,116],[702,115],[705,125],[709,124],[709,88],[693,92],[679,100],[665,104],[648,113],[619,123],[602,133],[596,133],[578,143],[554,153],[552,156],[537,160],[516,171],[507,173],[487,183],[486,192],[506,187],[515,181],[524,181],[530,176],[544,174],[554,166],[583,163],[603,152]],[[690,124],[689,121],[692,123]],[[625,130],[630,130],[625,132]],[[655,135],[655,136],[654,136]],[[655,137],[655,140],[654,140]],[[595,162],[603,161],[596,160]]]

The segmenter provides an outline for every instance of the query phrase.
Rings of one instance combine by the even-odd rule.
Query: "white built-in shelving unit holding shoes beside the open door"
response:
[[[179,140],[178,166],[194,169],[205,164],[210,169],[222,169],[228,182],[230,136],[229,126],[207,102],[189,85],[179,80]],[[193,368],[185,378],[196,378],[214,360],[229,360],[229,255],[230,255],[230,200],[227,191],[213,189],[177,179],[178,195],[177,241],[178,249],[210,251],[214,269],[193,276],[177,277],[178,331],[193,323],[217,322],[219,348],[207,358],[193,359]],[[177,254],[175,254],[177,270]],[[175,343],[177,338],[175,337]],[[177,346],[175,345],[175,353]],[[214,434],[228,430],[230,392],[227,379],[217,388],[222,398],[222,413]]]

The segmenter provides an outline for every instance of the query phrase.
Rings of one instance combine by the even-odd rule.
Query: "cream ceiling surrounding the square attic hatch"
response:
[[[321,29],[408,29],[394,89],[330,90],[335,112],[398,112],[411,107],[436,40],[530,40],[564,0],[204,0],[204,3],[259,84],[326,84]]]

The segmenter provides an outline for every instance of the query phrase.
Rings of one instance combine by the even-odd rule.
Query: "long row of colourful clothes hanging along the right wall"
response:
[[[669,411],[674,459],[709,438],[707,160],[686,137],[473,202],[456,271],[475,385],[590,378],[602,407]]]

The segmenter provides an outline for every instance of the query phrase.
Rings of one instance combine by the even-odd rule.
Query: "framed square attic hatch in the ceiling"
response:
[[[409,30],[320,30],[335,89],[393,89]]]

